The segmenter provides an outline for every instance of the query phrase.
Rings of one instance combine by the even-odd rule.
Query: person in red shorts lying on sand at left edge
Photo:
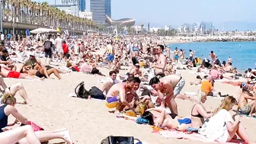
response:
[[[5,65],[0,65],[0,75],[4,78],[40,79],[21,72],[10,71]]]

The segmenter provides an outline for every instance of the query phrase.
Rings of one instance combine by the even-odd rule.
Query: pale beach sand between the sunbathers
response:
[[[102,72],[108,74],[107,69],[101,69]],[[194,80],[194,74],[189,70],[178,70],[182,77],[186,80],[181,94],[185,91],[196,92],[199,86],[189,85]],[[115,114],[110,114],[109,109],[104,101],[85,100],[80,98],[72,98],[70,93],[74,93],[76,85],[85,82],[85,88],[89,90],[91,86],[101,88],[98,79],[106,79],[100,75],[88,75],[79,72],[72,72],[69,75],[61,75],[61,80],[45,79],[43,82],[28,81],[24,79],[5,79],[7,85],[21,82],[27,91],[27,94],[33,106],[29,107],[23,104],[17,104],[16,107],[24,117],[28,120],[42,126],[44,130],[56,130],[67,128],[70,130],[73,142],[75,144],[100,143],[107,136],[134,136],[142,141],[151,144],[164,143],[203,143],[184,139],[166,139],[158,133],[152,133],[152,128],[146,125],[138,125],[131,120],[117,118]],[[53,77],[53,76],[51,76]],[[222,94],[235,95],[238,87],[216,82],[216,89],[222,91]],[[22,99],[19,94],[15,96],[18,102]],[[190,115],[192,107],[191,101],[176,100],[178,103],[178,111],[181,116]],[[220,98],[208,98],[205,107],[207,110],[214,110],[218,107]],[[10,120],[14,120],[11,118]],[[251,139],[254,141],[254,132],[256,129],[256,120],[249,117],[242,117],[242,124],[247,129]],[[62,140],[55,139],[50,143],[60,143]]]

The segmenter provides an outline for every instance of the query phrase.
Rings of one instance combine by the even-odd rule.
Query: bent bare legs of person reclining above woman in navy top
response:
[[[16,92],[19,91],[19,94],[24,99],[26,104],[31,105],[30,104],[30,100],[27,98],[27,92],[25,91],[25,88],[24,88],[24,86],[21,83],[17,83],[15,85],[11,85],[10,90],[9,90],[9,88],[5,89],[5,92],[7,92],[7,91],[10,91],[11,95],[15,95]]]

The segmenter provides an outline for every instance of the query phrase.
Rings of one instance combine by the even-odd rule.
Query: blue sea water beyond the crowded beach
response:
[[[178,47],[178,50],[186,50],[186,57],[189,56],[189,50],[193,50],[194,56],[209,58],[209,53],[213,50],[221,62],[227,62],[230,56],[232,66],[239,70],[256,68],[256,42],[172,43],[168,46],[171,50],[175,47]]]

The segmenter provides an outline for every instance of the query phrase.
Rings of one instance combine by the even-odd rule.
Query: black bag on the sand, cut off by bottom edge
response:
[[[133,136],[107,136],[101,141],[101,144],[134,144]]]

